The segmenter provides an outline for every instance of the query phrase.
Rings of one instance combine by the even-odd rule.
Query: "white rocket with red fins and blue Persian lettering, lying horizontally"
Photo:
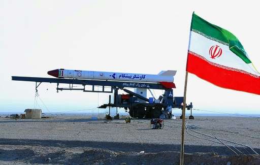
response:
[[[177,71],[161,71],[158,75],[117,73],[99,71],[80,71],[57,69],[48,72],[48,75],[56,78],[91,79],[91,80],[114,80],[130,82],[160,83],[167,88],[175,88],[174,76]]]

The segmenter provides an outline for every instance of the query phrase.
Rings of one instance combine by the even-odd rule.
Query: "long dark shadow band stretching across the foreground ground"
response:
[[[159,139],[158,139],[159,140]],[[117,142],[93,142],[93,141],[67,141],[67,140],[35,140],[35,139],[0,139],[0,145],[33,145],[33,146],[48,146],[48,147],[90,147],[104,149],[110,151],[123,152],[165,152],[165,151],[180,151],[180,145],[177,144],[148,144],[148,143],[117,143]],[[245,153],[254,154],[250,149],[236,147]],[[260,149],[255,148],[256,152],[260,153]],[[234,153],[225,146],[200,146],[200,145],[185,145],[185,153],[194,152],[215,152],[219,155],[234,155]]]

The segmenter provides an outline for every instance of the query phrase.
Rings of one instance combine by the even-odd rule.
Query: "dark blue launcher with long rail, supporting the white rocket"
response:
[[[159,83],[147,83],[147,82],[128,82],[128,81],[111,81],[111,80],[86,80],[86,79],[64,79],[64,78],[42,78],[42,77],[19,77],[12,76],[14,81],[28,81],[35,82],[36,87],[39,87],[41,83],[56,83],[57,92],[60,90],[82,90],[83,92],[102,92],[102,93],[114,93],[114,102],[111,103],[111,96],[109,97],[109,103],[104,104],[98,108],[117,107],[128,110],[129,115],[134,118],[159,118],[161,114],[166,114],[167,118],[171,117],[171,111],[169,109],[183,107],[183,97],[174,97],[173,89],[168,88],[167,85]],[[60,88],[59,84],[70,84],[70,88]],[[82,85],[82,88],[74,88],[73,85]],[[90,86],[90,90],[86,90],[86,86]],[[102,90],[95,90],[95,86],[102,87]],[[110,88],[109,90],[105,90]],[[135,89],[160,89],[165,90],[164,94],[154,101],[150,101],[148,98],[130,91],[126,88]],[[118,90],[123,90],[128,94],[118,94]],[[142,93],[142,92],[141,92]],[[192,109],[192,103],[186,106],[189,110]],[[190,115],[190,117],[193,117]],[[192,119],[192,118],[191,118]]]

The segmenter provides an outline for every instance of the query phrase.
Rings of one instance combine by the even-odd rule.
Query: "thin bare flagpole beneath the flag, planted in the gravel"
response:
[[[188,72],[185,75],[184,85],[184,97],[183,97],[183,108],[182,108],[182,128],[181,128],[181,153],[180,153],[180,165],[184,164],[184,130],[185,130],[185,109],[186,109],[186,89],[187,89]]]

